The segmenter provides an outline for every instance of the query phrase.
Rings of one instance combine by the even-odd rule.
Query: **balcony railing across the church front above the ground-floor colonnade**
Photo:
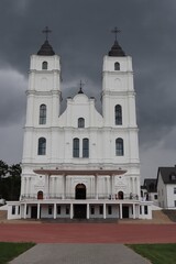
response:
[[[123,196],[119,197],[117,194],[87,194],[86,198],[79,197],[76,198],[75,194],[50,194],[50,195],[43,195],[43,197],[38,196],[37,194],[30,194],[30,195],[22,195],[21,200],[48,200],[48,199],[54,199],[54,200],[62,200],[62,199],[70,199],[70,200],[88,200],[88,199],[98,199],[98,200],[139,200],[138,195],[133,194],[123,194]]]

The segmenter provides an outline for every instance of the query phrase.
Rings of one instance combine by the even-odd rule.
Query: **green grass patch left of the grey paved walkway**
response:
[[[11,242],[0,242],[0,264],[7,264],[12,261],[18,255],[28,251],[34,243],[11,243]]]

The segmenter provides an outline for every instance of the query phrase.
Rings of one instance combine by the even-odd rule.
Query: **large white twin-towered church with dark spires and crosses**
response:
[[[102,114],[81,84],[61,113],[61,58],[47,33],[31,56],[21,195],[8,202],[8,219],[151,219],[140,190],[132,58],[116,37],[102,63]]]

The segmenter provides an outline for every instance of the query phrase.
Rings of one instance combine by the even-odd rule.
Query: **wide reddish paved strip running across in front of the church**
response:
[[[0,241],[36,243],[176,243],[176,224],[1,223]]]

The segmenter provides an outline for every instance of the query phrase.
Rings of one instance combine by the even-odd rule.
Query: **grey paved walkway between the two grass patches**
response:
[[[37,244],[10,264],[150,264],[122,244]]]

